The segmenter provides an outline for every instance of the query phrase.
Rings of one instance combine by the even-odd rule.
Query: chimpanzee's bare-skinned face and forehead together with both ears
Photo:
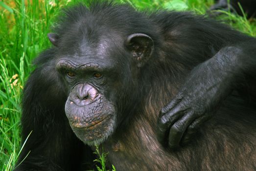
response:
[[[58,46],[57,35],[49,34],[48,37]],[[55,66],[68,92],[65,112],[70,126],[80,140],[93,145],[106,140],[118,125],[117,115],[120,113],[116,100],[120,100],[122,79],[127,78],[122,74],[127,71],[117,66],[120,62],[116,63],[117,55],[113,54],[114,47],[106,43],[108,40],[90,42],[83,39],[79,48],[72,51],[61,50],[65,49],[62,43]],[[130,68],[133,68],[132,64],[140,68],[153,49],[152,39],[144,34],[132,34],[121,44],[116,50],[123,52],[118,55],[127,55],[123,63],[131,63],[126,64]]]

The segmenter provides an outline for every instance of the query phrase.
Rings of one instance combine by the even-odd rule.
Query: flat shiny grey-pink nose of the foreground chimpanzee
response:
[[[70,92],[70,100],[76,105],[88,105],[97,97],[98,91],[89,84],[76,85]]]

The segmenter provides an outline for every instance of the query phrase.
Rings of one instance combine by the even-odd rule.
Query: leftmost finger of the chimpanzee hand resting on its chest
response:
[[[170,127],[183,115],[181,108],[175,107],[170,112],[163,114],[157,121],[157,139],[161,144],[166,143]]]

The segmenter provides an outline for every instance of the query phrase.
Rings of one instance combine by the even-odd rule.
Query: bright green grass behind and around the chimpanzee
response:
[[[14,169],[21,150],[21,97],[33,70],[32,61],[50,46],[47,33],[59,8],[69,0],[0,1],[0,170]],[[213,0],[118,0],[143,9],[178,8],[205,14]],[[226,13],[220,17],[236,29],[256,36],[256,21]],[[104,156],[103,156],[104,158]],[[98,162],[102,158],[99,158]],[[102,164],[102,163],[101,163]]]

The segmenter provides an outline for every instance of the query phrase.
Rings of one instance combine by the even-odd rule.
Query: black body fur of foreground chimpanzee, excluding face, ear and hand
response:
[[[245,103],[242,95],[233,93],[222,105],[219,104],[219,108],[214,106],[217,114],[199,128],[199,134],[193,137],[191,144],[180,150],[165,149],[157,141],[156,131],[161,108],[177,94],[186,77],[190,78],[192,69],[197,80],[191,80],[191,83],[200,82],[198,75],[202,73],[197,71],[201,70],[195,69],[203,68],[216,54],[229,56],[234,47],[235,50],[240,49],[236,54],[248,57],[245,58],[248,63],[239,62],[237,65],[240,70],[236,78],[244,82],[235,82],[237,86],[234,88],[223,89],[227,88],[228,92],[238,89],[241,92],[248,90],[247,85],[254,89],[254,38],[190,12],[160,10],[143,13],[128,5],[112,2],[93,3],[90,8],[83,4],[75,5],[64,9],[58,21],[54,28],[59,36],[57,46],[36,59],[36,69],[24,88],[23,143],[32,133],[19,162],[29,154],[15,171],[79,171],[93,168],[91,148],[84,145],[70,128],[64,110],[69,92],[55,69],[57,60],[64,55],[83,56],[80,51],[83,38],[93,45],[106,39],[106,48],[112,47],[108,50],[111,64],[115,66],[111,74],[113,82],[117,80],[119,84],[113,84],[110,88],[114,93],[106,94],[106,97],[114,99],[117,107],[117,128],[103,144],[109,151],[108,162],[114,164],[117,171],[256,170],[254,94],[250,96],[250,103]],[[154,41],[151,58],[140,68],[134,65],[132,55],[125,47],[126,38],[134,33],[146,34]],[[93,50],[90,51],[92,56],[96,54]],[[72,55],[68,58],[77,59]],[[221,63],[209,66],[223,69],[219,65]],[[245,76],[244,73],[251,74]],[[212,72],[212,75],[218,74],[221,75],[222,70]],[[215,80],[211,81],[214,83]],[[217,98],[224,97],[219,95]]]

